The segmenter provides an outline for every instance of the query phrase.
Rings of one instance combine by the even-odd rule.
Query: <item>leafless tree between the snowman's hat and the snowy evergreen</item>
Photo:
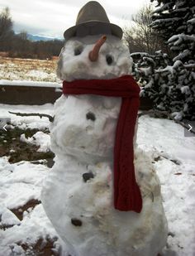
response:
[[[124,39],[129,46],[130,52],[145,51],[154,54],[155,51],[162,49],[162,39],[150,27],[152,12],[153,7],[151,4],[142,7],[132,17],[134,25],[125,28]]]

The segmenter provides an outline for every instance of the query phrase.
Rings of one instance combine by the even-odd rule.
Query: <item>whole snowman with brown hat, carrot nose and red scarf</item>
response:
[[[167,240],[159,179],[136,145],[139,86],[121,28],[95,1],[64,32],[41,200],[71,256],[156,256]]]

